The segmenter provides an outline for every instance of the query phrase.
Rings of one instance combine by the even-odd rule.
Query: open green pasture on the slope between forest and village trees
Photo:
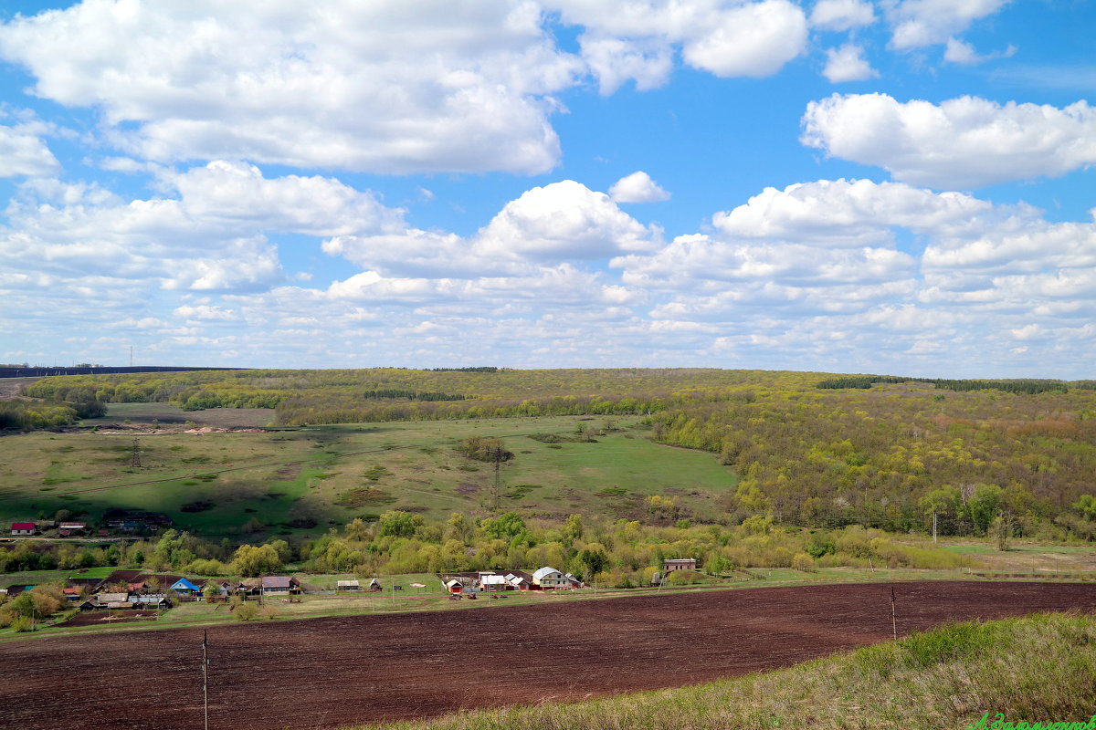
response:
[[[149,407],[124,405],[134,413]],[[643,512],[644,497],[661,494],[697,515],[715,514],[718,497],[735,485],[733,472],[712,454],[652,443],[637,421],[615,419],[616,430],[594,441],[561,443],[525,434],[569,434],[580,425],[602,428],[605,420],[12,434],[0,440],[8,456],[0,465],[0,522],[52,517],[60,509],[98,518],[128,508],[165,512],[175,525],[203,536],[250,537],[318,534],[390,509],[430,518],[453,511],[487,514],[493,507],[493,466],[453,449],[470,434],[505,437],[515,452],[501,471],[504,510],[635,518]],[[138,467],[130,465],[135,438]]]

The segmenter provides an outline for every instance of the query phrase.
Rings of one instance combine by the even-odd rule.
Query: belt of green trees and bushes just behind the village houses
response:
[[[727,576],[749,568],[877,566],[956,568],[970,559],[927,547],[902,545],[881,530],[848,525],[804,530],[756,515],[741,524],[670,525],[641,521],[592,520],[572,514],[544,520],[517,512],[447,520],[389,511],[367,522],[308,540],[274,540],[258,545],[206,541],[167,530],[155,540],[129,545],[78,546],[20,542],[0,547],[0,571],[79,569],[94,566],[140,568],[204,577],[253,577],[294,569],[361,577],[551,566],[586,581],[628,588],[650,584],[666,558],[695,558],[703,573]],[[698,575],[674,580],[704,580]]]

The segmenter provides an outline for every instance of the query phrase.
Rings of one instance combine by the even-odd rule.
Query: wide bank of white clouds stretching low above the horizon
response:
[[[165,179],[178,197],[27,188],[18,231],[0,240],[5,301],[31,312],[48,288],[89,333],[327,366],[452,362],[475,337],[480,360],[521,366],[671,357],[840,371],[868,357],[910,372],[969,351],[983,372],[1017,367],[1026,347],[1081,369],[1094,335],[1096,224],[904,183],[765,188],[663,243],[574,181],[530,188],[466,237],[411,228],[330,178],[215,162]],[[256,217],[254,190],[278,205]],[[278,231],[312,236],[355,273],[288,283],[266,240]],[[159,292],[141,286],[150,276]]]

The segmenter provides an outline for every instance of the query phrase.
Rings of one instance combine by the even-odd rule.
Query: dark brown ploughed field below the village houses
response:
[[[899,583],[899,635],[1096,612],[1096,586]],[[210,728],[332,728],[786,667],[891,637],[890,587],[715,591],[209,629]],[[3,726],[202,727],[201,629],[0,645]]]

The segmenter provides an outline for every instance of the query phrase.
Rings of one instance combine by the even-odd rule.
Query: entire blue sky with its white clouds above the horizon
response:
[[[1088,2],[9,2],[0,361],[1092,378]]]

